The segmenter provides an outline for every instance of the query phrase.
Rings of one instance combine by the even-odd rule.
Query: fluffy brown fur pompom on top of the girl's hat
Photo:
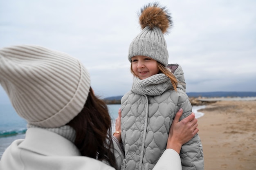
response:
[[[171,13],[168,12],[166,7],[159,6],[158,3],[145,5],[141,8],[139,15],[141,29],[144,29],[146,26],[153,29],[153,27],[157,26],[162,30],[162,33],[168,33],[168,29],[173,26]]]

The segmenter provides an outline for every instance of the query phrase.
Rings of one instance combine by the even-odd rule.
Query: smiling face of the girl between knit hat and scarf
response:
[[[146,79],[159,73],[157,61],[143,55],[136,55],[132,59],[132,71],[140,79]]]

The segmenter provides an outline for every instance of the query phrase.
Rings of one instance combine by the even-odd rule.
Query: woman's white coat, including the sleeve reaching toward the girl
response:
[[[171,160],[169,158],[172,158]],[[4,151],[0,170],[115,170],[106,163],[80,155],[66,138],[45,129],[29,128]],[[180,156],[167,149],[154,170],[182,170]]]

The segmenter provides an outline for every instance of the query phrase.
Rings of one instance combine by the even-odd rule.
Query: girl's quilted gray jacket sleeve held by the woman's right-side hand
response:
[[[178,103],[179,108],[183,109],[181,119],[184,119],[192,113],[192,106],[186,93],[180,93]],[[204,155],[202,143],[198,134],[182,146],[180,150],[180,158],[182,170],[204,170]]]

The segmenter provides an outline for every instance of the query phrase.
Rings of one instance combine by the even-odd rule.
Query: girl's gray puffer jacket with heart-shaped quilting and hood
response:
[[[181,119],[192,113],[181,66],[168,67],[180,82],[177,92],[170,85],[161,95],[146,95],[133,85],[121,99],[121,137],[125,152],[122,170],[152,170],[166,150],[168,132],[177,111],[183,109]],[[204,169],[198,134],[182,146],[180,157],[183,170]]]

